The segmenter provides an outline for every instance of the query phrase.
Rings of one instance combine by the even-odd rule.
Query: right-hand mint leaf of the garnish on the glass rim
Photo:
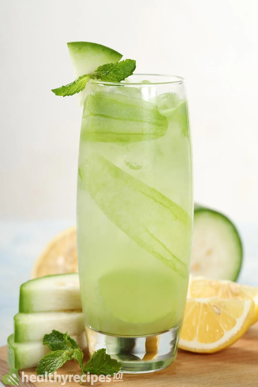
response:
[[[132,59],[121,60],[121,62],[106,63],[99,66],[93,74],[92,79],[100,79],[103,82],[120,82],[133,74],[136,61]]]

